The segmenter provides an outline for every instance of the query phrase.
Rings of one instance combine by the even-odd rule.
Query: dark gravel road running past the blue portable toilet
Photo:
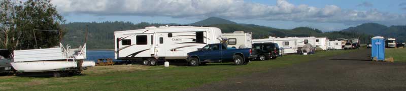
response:
[[[404,90],[406,63],[369,61],[370,50],[231,77],[187,90]],[[299,60],[299,59],[297,59]]]

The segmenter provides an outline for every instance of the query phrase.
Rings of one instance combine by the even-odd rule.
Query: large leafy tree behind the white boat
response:
[[[2,48],[6,49],[36,49],[50,48],[58,45],[63,31],[60,23],[65,20],[58,14],[56,8],[50,0],[28,0],[12,1],[4,0],[0,2],[2,12],[0,18],[0,28],[2,29]],[[59,30],[59,32],[33,31],[39,30]],[[36,35],[34,38],[33,35]]]

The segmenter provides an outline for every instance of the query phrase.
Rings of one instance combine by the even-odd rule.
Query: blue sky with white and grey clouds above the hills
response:
[[[67,22],[129,21],[189,24],[208,17],[291,29],[341,30],[362,23],[405,25],[406,1],[350,0],[54,0]]]

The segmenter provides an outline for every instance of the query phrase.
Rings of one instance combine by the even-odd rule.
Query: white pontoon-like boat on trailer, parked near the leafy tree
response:
[[[94,61],[86,59],[86,43],[78,49],[70,45],[48,49],[16,50],[14,62],[11,63],[17,72],[73,72],[80,73],[83,68],[95,66]]]

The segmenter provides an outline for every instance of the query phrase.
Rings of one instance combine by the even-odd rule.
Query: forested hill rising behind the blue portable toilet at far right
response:
[[[406,25],[385,26],[377,23],[365,23],[356,27],[350,27],[342,31],[365,33],[374,36],[394,37],[398,42],[406,41]]]

